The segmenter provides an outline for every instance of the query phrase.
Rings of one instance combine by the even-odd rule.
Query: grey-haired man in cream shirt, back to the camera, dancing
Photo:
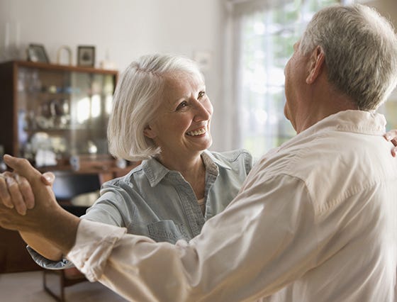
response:
[[[374,112],[396,86],[396,34],[367,6],[323,9],[285,74],[298,135],[262,157],[193,240],[79,220],[9,156],[36,205],[25,216],[1,207],[0,225],[50,240],[131,301],[396,301],[397,162]]]

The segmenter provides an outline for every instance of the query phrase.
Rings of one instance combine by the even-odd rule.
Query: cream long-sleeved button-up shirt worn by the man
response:
[[[189,242],[83,220],[68,257],[130,301],[396,301],[397,160],[385,124],[342,111],[296,135]]]

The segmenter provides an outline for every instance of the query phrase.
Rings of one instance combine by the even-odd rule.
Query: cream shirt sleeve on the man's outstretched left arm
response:
[[[190,242],[156,243],[83,220],[68,258],[89,280],[133,301],[269,296],[315,266],[313,205],[300,179],[259,174],[249,182]]]

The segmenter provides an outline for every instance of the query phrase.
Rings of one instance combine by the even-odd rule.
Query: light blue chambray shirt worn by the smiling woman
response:
[[[198,204],[189,182],[151,158],[124,177],[107,181],[101,196],[82,218],[127,228],[157,242],[190,240],[209,218],[223,211],[235,198],[252,168],[246,150],[204,151],[206,211]],[[36,263],[47,269],[71,267],[67,259],[52,262],[28,247]]]

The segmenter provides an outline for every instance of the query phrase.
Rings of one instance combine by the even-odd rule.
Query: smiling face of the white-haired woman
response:
[[[160,159],[195,158],[212,144],[210,122],[213,106],[202,79],[186,72],[165,79],[162,104],[145,135],[161,147]]]

